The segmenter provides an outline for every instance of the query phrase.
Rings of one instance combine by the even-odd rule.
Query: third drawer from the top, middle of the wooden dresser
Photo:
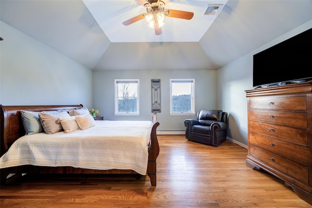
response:
[[[256,132],[279,140],[308,145],[308,131],[291,127],[250,121],[250,132]]]

